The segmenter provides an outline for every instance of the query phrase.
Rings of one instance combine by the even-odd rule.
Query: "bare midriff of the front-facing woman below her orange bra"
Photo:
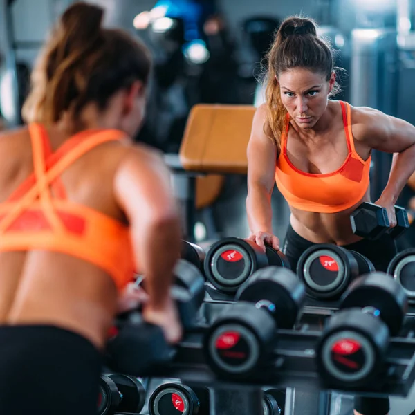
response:
[[[334,243],[342,246],[360,241],[362,237],[356,236],[351,230],[350,214],[362,202],[370,202],[369,188],[358,203],[341,212],[306,212],[290,206],[291,226],[299,236],[313,243]]]

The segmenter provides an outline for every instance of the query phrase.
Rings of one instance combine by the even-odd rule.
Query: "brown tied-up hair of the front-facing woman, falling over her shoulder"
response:
[[[317,37],[317,24],[313,19],[288,17],[279,26],[267,61],[266,73],[266,135],[280,150],[280,137],[283,132],[287,111],[281,101],[277,78],[291,68],[309,68],[313,72],[326,75],[329,81],[333,66],[333,49],[329,42]],[[331,95],[340,91],[335,84]]]

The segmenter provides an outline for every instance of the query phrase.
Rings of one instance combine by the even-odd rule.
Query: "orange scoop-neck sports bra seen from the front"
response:
[[[275,182],[289,205],[299,210],[335,213],[351,208],[362,199],[369,187],[371,156],[362,160],[356,153],[351,133],[351,109],[340,101],[349,154],[335,172],[311,174],[302,172],[287,156],[290,123],[281,137],[281,152],[275,167]]]

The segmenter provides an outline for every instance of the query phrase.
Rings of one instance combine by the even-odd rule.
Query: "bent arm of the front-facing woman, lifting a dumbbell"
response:
[[[399,118],[369,108],[354,109],[360,140],[371,149],[394,153],[389,181],[382,200],[395,204],[408,178],[415,170],[415,127]],[[355,124],[355,122],[353,122]]]

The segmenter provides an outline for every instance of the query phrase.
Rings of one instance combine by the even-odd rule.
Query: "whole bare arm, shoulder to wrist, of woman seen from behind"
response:
[[[136,264],[146,278],[147,305],[162,309],[180,257],[180,224],[169,171],[158,154],[134,149],[118,169],[114,185],[131,225]]]

